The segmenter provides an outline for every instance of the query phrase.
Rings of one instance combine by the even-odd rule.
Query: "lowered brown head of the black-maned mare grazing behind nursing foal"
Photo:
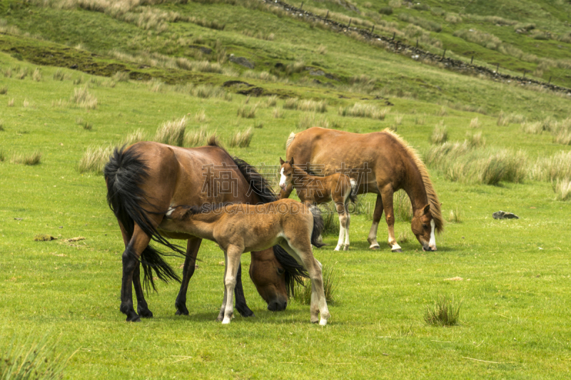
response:
[[[268,310],[281,312],[288,306],[288,288],[285,269],[276,260],[272,248],[252,252],[250,278],[261,297],[268,303]]]

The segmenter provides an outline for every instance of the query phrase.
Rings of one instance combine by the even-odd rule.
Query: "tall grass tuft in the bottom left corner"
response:
[[[1,347],[1,379],[55,380],[64,378],[64,370],[72,354],[56,354],[57,341],[48,334],[37,339],[34,334],[22,342],[16,335]]]

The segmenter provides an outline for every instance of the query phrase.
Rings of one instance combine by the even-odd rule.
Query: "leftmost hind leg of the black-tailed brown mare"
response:
[[[138,267],[138,258],[141,252],[145,250],[151,238],[135,225],[131,242],[127,245],[123,252],[123,278],[121,279],[121,307],[119,308],[123,314],[127,316],[127,322],[140,322],[138,314],[133,309],[133,274]],[[139,280],[140,281],[140,280]],[[141,289],[142,294],[142,289]]]

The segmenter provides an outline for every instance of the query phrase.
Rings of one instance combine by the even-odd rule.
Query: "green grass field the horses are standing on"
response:
[[[183,3],[123,13],[59,9],[57,1],[46,7],[35,1],[0,4],[2,359],[12,337],[49,334],[59,339],[56,354],[76,351],[65,379],[570,376],[571,208],[568,200],[557,200],[556,180],[534,174],[544,170],[542,159],[570,152],[570,145],[557,142],[554,134],[569,128],[569,96],[425,65],[255,1]],[[375,24],[392,21],[399,30],[407,27],[398,18],[402,12],[435,22],[445,17],[436,7],[462,13],[451,1],[428,1],[429,10],[391,3],[390,16],[377,16],[388,1],[310,1],[304,8],[327,8]],[[339,4],[353,4],[361,13]],[[570,21],[564,1],[490,4],[475,1],[464,13],[534,23],[558,36],[565,35]],[[159,15],[156,24],[150,16],[147,24],[137,24],[135,16],[152,14],[150,9],[177,12],[183,20]],[[196,19],[189,21],[191,17]],[[454,24],[456,29],[473,27],[467,20],[475,17],[463,16],[465,25]],[[513,26],[478,20],[470,22],[526,53],[571,58],[568,42],[533,40],[535,47],[529,35],[515,34]],[[214,28],[213,21],[225,24],[224,29]],[[446,41],[467,43],[447,29],[430,31],[430,36],[442,40],[443,47]],[[198,53],[200,48],[212,52]],[[488,56],[495,54],[511,62],[505,65],[512,64],[514,71],[539,64],[480,48],[483,63],[492,63],[495,58]],[[463,56],[461,48],[451,49]],[[256,68],[248,71],[229,61],[231,53]],[[211,66],[189,69],[190,63],[176,63],[176,58]],[[276,68],[278,62],[285,68]],[[303,65],[295,68],[296,62]],[[536,78],[557,76],[552,83],[570,86],[570,71],[561,67]],[[312,76],[315,70],[331,78]],[[263,88],[262,96],[238,93],[245,86],[222,88],[226,81],[251,83]],[[80,93],[83,103],[76,102]],[[292,98],[326,101],[327,107],[323,113],[292,109],[286,105]],[[341,115],[340,108],[355,103],[389,111],[384,118]],[[254,118],[238,115],[254,106]],[[508,119],[505,125],[498,125],[504,118],[500,111]],[[378,233],[381,249],[368,250],[375,197],[363,197],[360,213],[351,217],[350,250],[333,252],[336,235],[325,236],[328,246],[314,250],[318,260],[335,268],[338,279],[326,327],[310,324],[308,305],[294,299],[285,312],[269,312],[246,271],[246,300],[256,317],[236,316],[228,326],[215,322],[223,297],[223,253],[213,242],[204,242],[199,252],[202,261],[188,292],[190,315],[174,315],[178,284],[161,283],[147,297],[154,318],[126,323],[118,310],[121,233],[106,205],[103,176],[81,172],[80,161],[89,148],[120,144],[136,130],[153,138],[163,123],[182,117],[187,133],[216,132],[233,155],[258,167],[278,165],[289,133],[308,125],[358,133],[393,128],[421,154],[433,148],[430,136],[438,125],[446,128],[450,142],[481,133],[486,142],[480,155],[488,148],[510,154],[521,150],[524,174],[520,182],[480,185],[470,178],[472,172],[458,175],[461,160],[444,170],[429,166],[443,215],[447,220],[451,210],[460,215],[460,222],[448,222],[437,237],[437,252],[423,252],[410,222],[403,220],[395,233],[406,237],[399,240],[404,252],[390,252],[384,220]],[[530,134],[523,132],[524,122],[550,126]],[[231,148],[236,131],[251,127],[250,145]],[[17,163],[33,153],[41,153],[36,165]],[[554,178],[568,181],[571,174],[565,178],[561,173]],[[520,219],[494,220],[497,210]],[[37,235],[57,239],[34,241]],[[74,237],[84,240],[66,241]],[[168,261],[175,268],[183,263]],[[249,262],[244,255],[243,267]],[[440,295],[462,300],[457,326],[424,321],[426,307]]]

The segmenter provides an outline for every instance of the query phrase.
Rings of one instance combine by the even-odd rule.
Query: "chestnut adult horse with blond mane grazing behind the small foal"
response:
[[[395,240],[393,193],[404,189],[413,205],[413,233],[423,250],[436,250],[435,232],[444,228],[438,195],[418,153],[396,133],[385,129],[358,134],[313,127],[291,133],[285,147],[288,160],[293,158],[298,165],[325,175],[344,173],[357,181],[357,194],[377,194],[367,239],[371,249],[379,248],[377,229],[384,210],[388,244],[393,252],[402,252]],[[292,190],[291,186],[282,189],[280,197],[288,197]]]

